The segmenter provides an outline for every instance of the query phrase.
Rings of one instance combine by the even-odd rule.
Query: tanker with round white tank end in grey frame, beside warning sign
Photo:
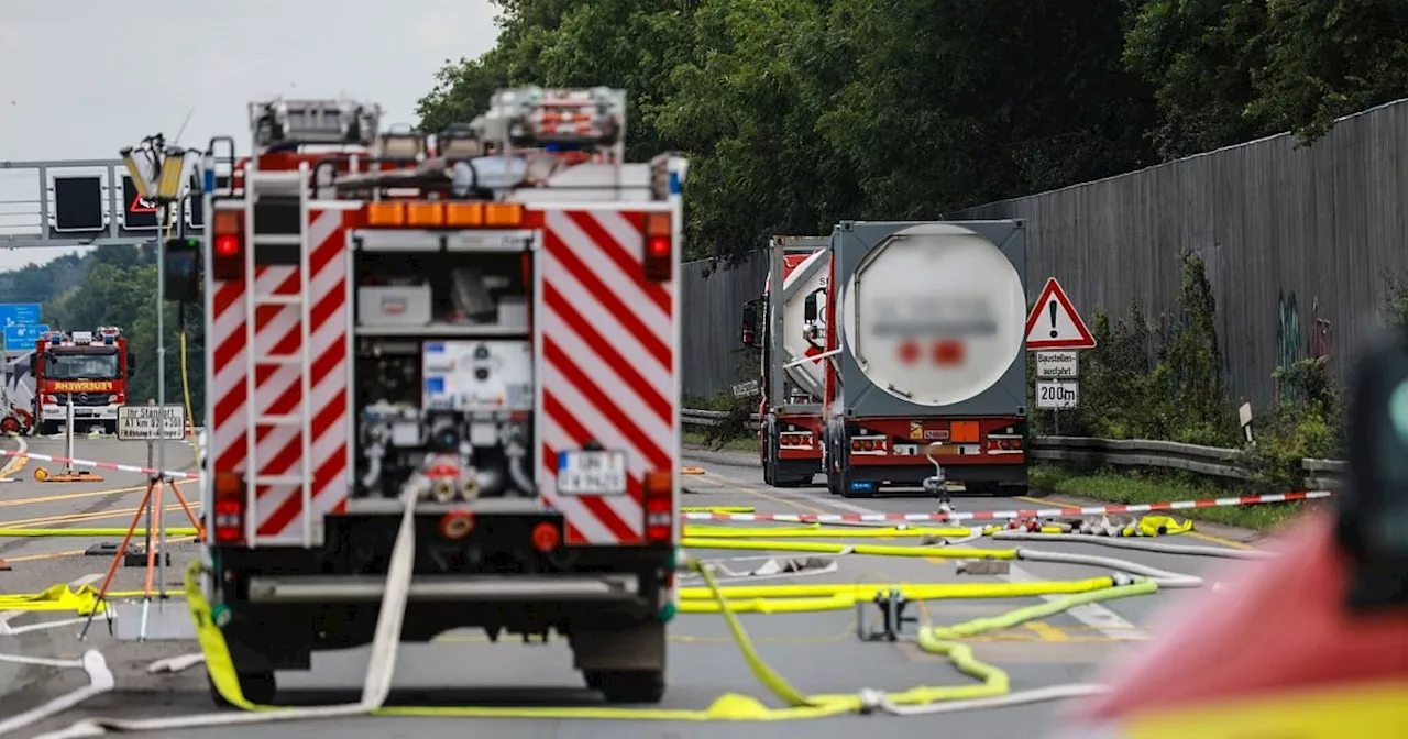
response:
[[[1026,490],[1022,221],[843,221],[803,298],[832,494]],[[818,258],[819,259],[819,258]]]

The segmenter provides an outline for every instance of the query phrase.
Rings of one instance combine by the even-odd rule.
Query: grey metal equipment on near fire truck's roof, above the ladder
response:
[[[249,104],[255,149],[310,144],[372,146],[382,107],[349,100],[284,100]]]

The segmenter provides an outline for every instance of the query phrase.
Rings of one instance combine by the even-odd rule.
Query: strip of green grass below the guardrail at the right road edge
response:
[[[1143,470],[1071,470],[1055,465],[1036,463],[1031,469],[1031,488],[1046,494],[1079,495],[1119,504],[1163,503],[1178,500],[1208,500],[1239,495],[1224,484]],[[1269,532],[1287,521],[1311,511],[1319,501],[1270,503],[1263,505],[1229,505],[1225,508],[1190,508],[1174,511],[1194,521],[1212,521],[1229,526]]]

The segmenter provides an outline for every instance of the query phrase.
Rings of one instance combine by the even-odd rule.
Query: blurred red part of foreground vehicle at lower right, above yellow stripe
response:
[[[1074,718],[1128,719],[1408,677],[1408,614],[1345,609],[1349,567],[1333,514],[1301,522],[1277,549],[1281,557],[1242,562],[1225,588],[1208,587],[1163,614],[1157,640],[1095,680],[1112,690],[1077,704]]]

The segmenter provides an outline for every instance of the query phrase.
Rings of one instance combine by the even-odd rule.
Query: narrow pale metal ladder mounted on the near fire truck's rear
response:
[[[311,546],[313,543],[313,469],[310,459],[313,456],[313,381],[310,374],[313,372],[313,358],[310,353],[311,343],[311,322],[310,315],[308,293],[310,280],[308,274],[310,266],[310,248],[308,248],[308,200],[310,200],[310,177],[308,165],[301,163],[297,172],[293,170],[276,170],[276,172],[260,172],[258,168],[258,159],[251,158],[249,166],[245,169],[245,234],[249,234],[249,244],[245,248],[245,284],[248,286],[245,296],[245,414],[246,414],[246,463],[245,463],[245,480],[246,480],[246,501],[245,508],[245,541],[249,546],[258,545],[258,488],[260,486],[297,486],[298,495],[303,501],[303,545]],[[259,203],[260,189],[269,190],[263,197],[289,197],[290,190],[296,187],[297,204],[298,204],[298,225],[297,234],[270,234],[269,228],[260,229],[259,220],[255,217]],[[260,246],[272,248],[290,248],[296,246],[298,249],[298,293],[297,294],[275,294],[275,293],[259,293],[259,280],[255,273],[255,252]],[[298,349],[290,355],[275,355],[275,353],[260,353],[256,346],[256,339],[259,334],[259,327],[255,325],[255,312],[260,305],[279,305],[289,307],[294,305],[298,308]],[[298,412],[287,415],[268,415],[260,412],[258,403],[258,370],[266,366],[296,366],[298,367]],[[259,427],[297,427],[298,439],[303,445],[301,453],[298,455],[297,473],[284,474],[262,474],[263,469],[259,460]]]

